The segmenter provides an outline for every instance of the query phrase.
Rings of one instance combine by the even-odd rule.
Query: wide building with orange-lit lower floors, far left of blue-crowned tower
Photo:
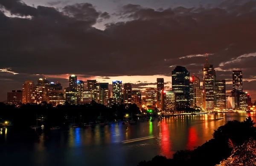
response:
[[[53,107],[63,105],[65,103],[64,94],[62,93],[61,83],[51,82],[48,86],[49,88],[49,104],[52,104]]]

